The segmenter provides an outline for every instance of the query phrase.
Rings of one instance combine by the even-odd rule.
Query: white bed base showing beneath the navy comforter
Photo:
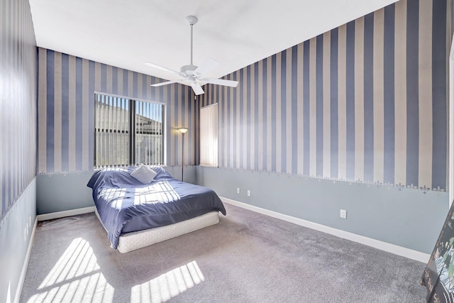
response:
[[[98,211],[95,210],[94,212],[102,224]],[[177,236],[182,236],[185,233],[191,233],[192,231],[196,231],[198,229],[218,223],[218,211],[211,211],[201,216],[196,216],[195,218],[181,221],[175,224],[145,229],[144,231],[124,233],[119,238],[117,249],[120,253],[128,253],[132,250],[150,246],[152,244],[175,238]],[[104,227],[104,229],[106,229],[104,224],[102,224],[102,226]]]

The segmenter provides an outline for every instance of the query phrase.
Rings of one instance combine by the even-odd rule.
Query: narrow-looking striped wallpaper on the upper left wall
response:
[[[0,1],[0,221],[36,175],[36,41],[26,0]]]

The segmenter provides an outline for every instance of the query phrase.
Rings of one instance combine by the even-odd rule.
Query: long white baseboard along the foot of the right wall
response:
[[[416,260],[422,263],[428,263],[428,259],[431,258],[431,255],[427,253],[421,253],[417,250],[412,250],[410,248],[404,248],[402,246],[397,246],[391,243],[375,240],[372,238],[367,238],[365,236],[357,235],[356,233],[350,233],[348,231],[343,231],[341,229],[321,225],[311,221],[306,221],[304,219],[295,218],[294,216],[288,216],[286,214],[280,214],[276,211],[270,211],[267,209],[262,209],[258,206],[253,206],[250,204],[245,204],[243,202],[238,202],[232,199],[221,197],[222,202],[232,204],[235,206],[242,207],[243,209],[248,209],[250,211],[255,211],[260,214],[265,214],[267,216],[272,216],[273,218],[281,219],[293,224],[304,226],[307,228],[315,229],[316,231],[322,231],[323,233],[329,233],[333,236],[338,236],[339,238],[344,238],[353,242],[371,246],[380,250],[387,251],[388,253],[394,253],[395,255],[401,255],[402,257]]]

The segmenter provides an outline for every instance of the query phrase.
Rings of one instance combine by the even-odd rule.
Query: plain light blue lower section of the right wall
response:
[[[446,192],[211,167],[197,168],[197,182],[221,197],[423,253],[432,252],[448,213]]]

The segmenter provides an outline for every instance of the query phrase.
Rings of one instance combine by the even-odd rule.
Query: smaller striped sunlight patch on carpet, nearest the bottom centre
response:
[[[196,261],[175,268],[153,280],[131,288],[131,303],[160,303],[204,282]]]

